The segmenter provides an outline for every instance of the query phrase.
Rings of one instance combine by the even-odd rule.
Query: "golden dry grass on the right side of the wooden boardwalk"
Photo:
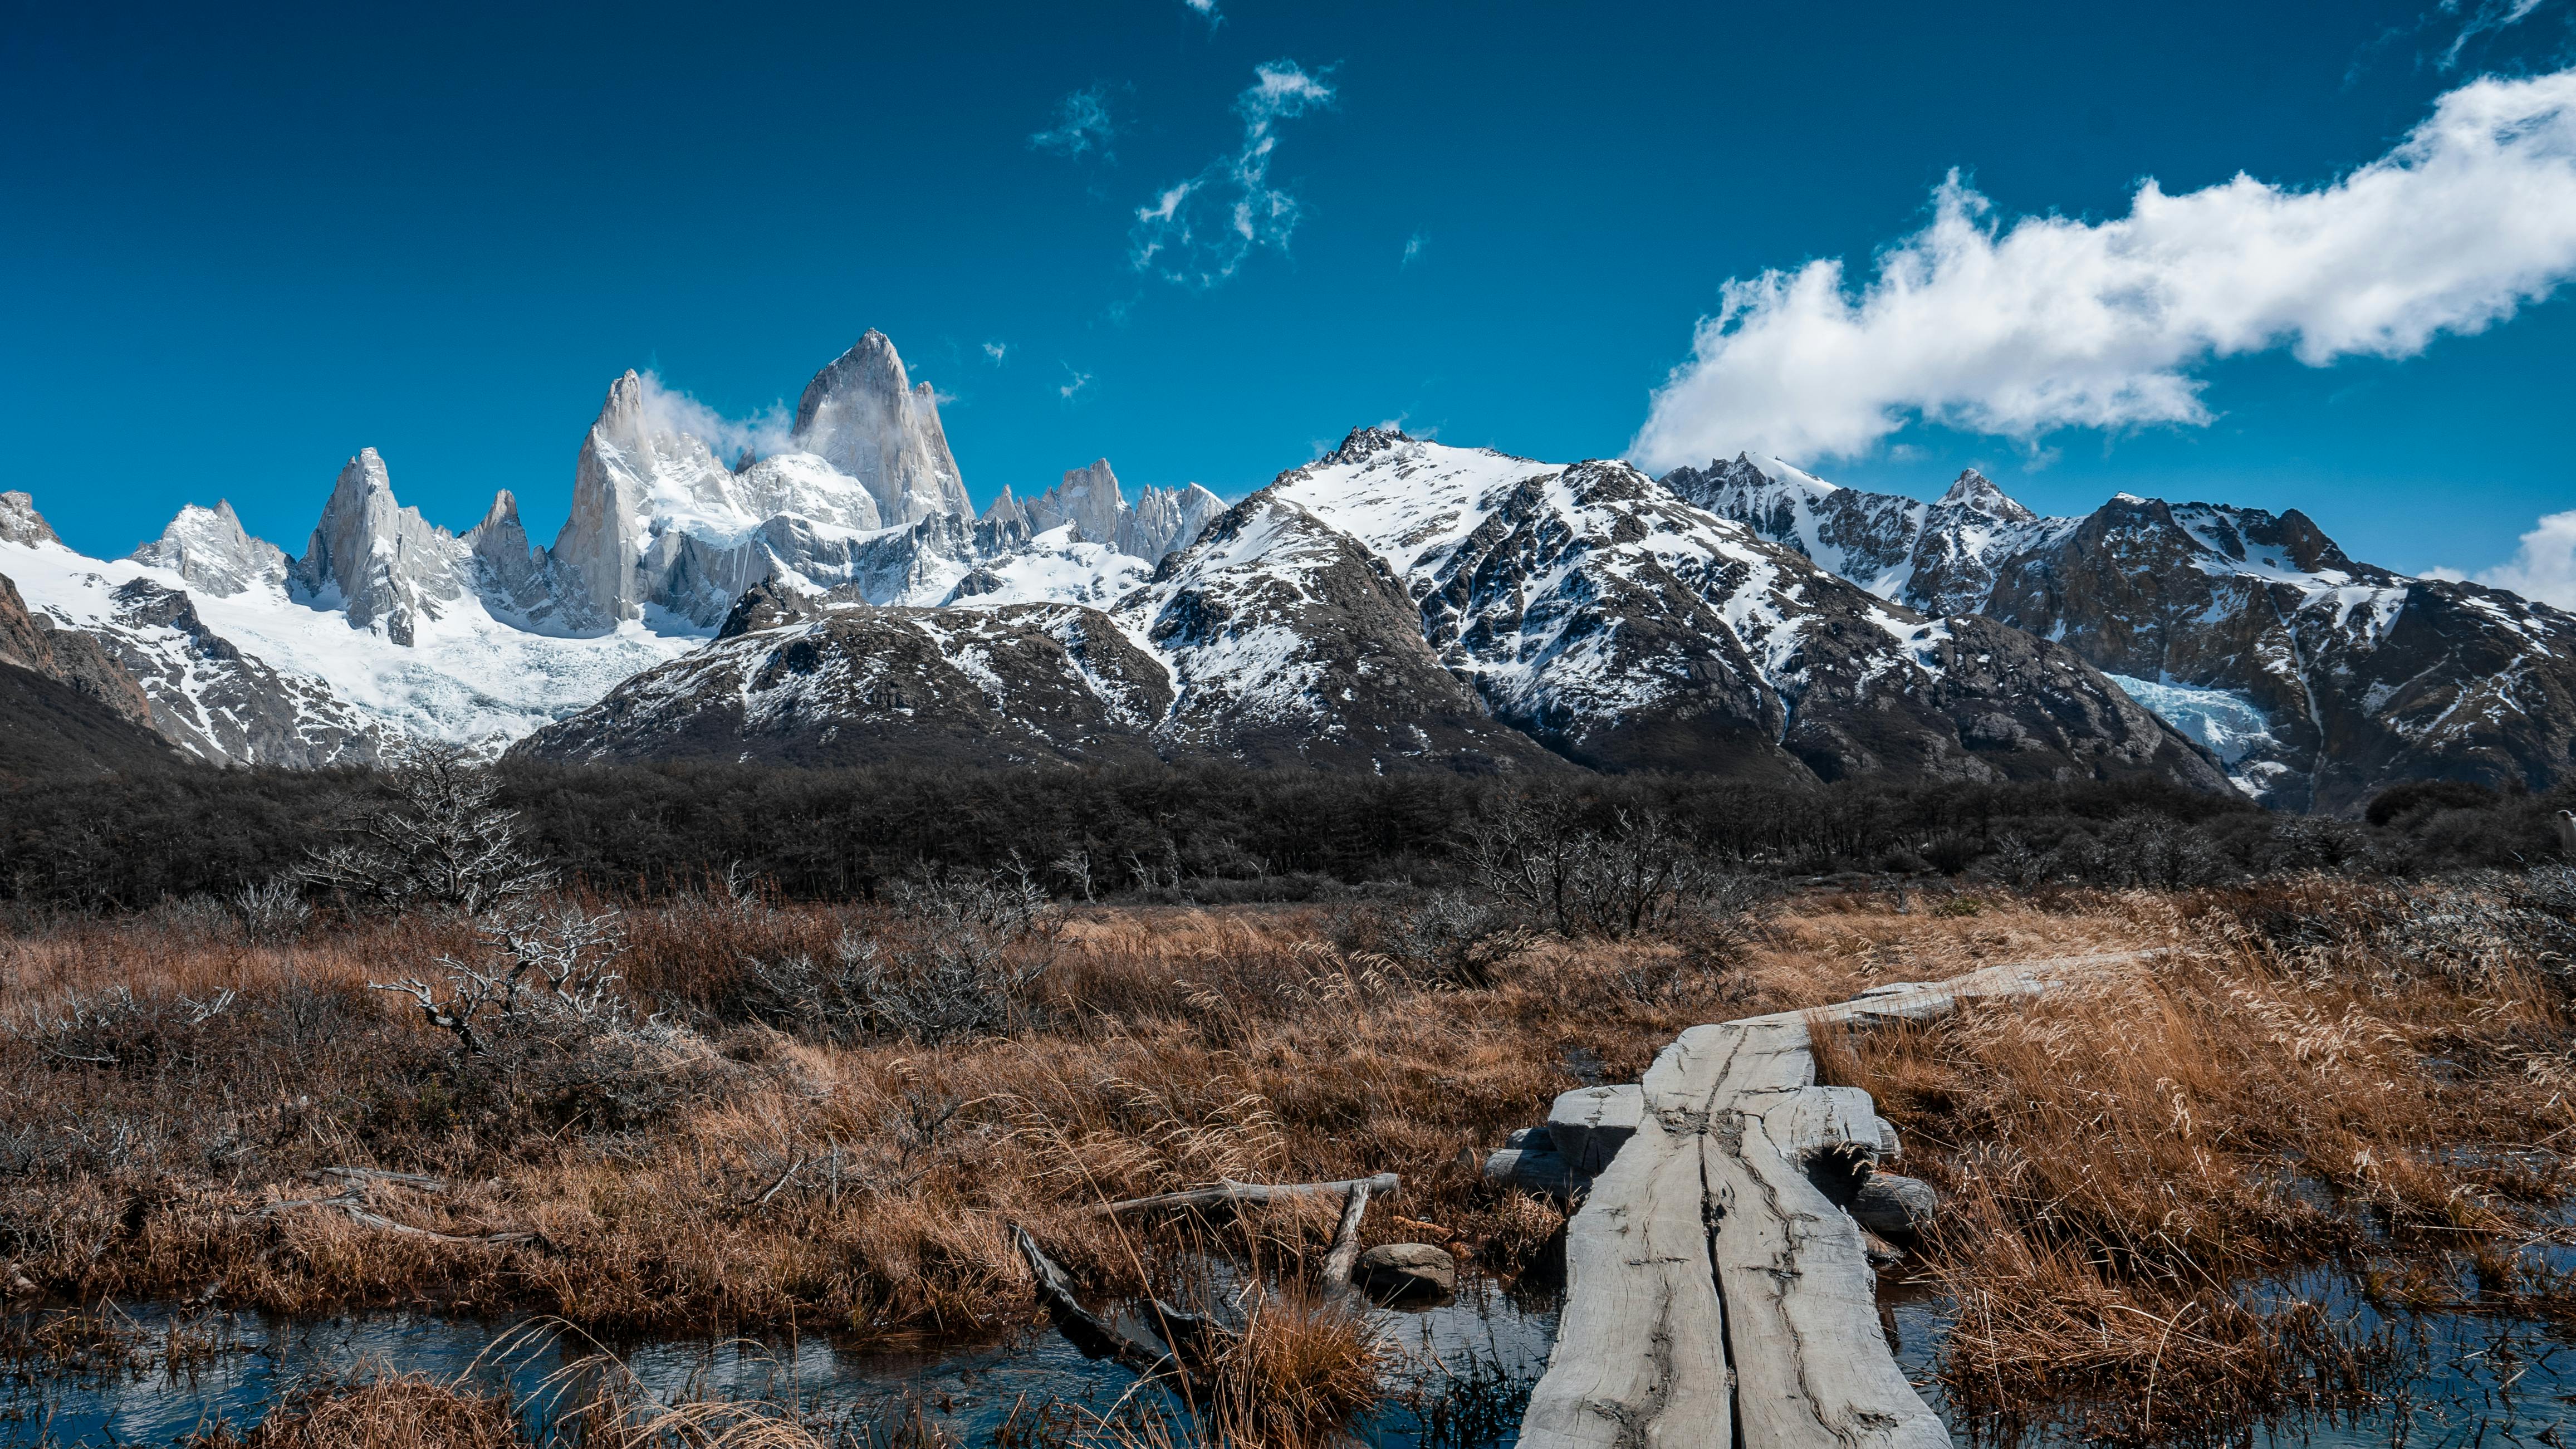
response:
[[[2014,1436],[2244,1428],[2365,1403],[2380,1307],[2543,1312],[2576,1132],[2568,987],[2501,887],[2112,897],[2169,949],[2050,998],[1821,1042],[1947,1204],[1942,1387]],[[2481,905],[2483,902],[2483,905]],[[2458,1269],[2483,1258],[2488,1297]],[[2259,1289],[2259,1292],[2257,1292]]]

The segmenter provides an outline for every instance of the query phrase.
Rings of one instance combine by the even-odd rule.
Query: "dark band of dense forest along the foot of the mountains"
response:
[[[2576,789],[2416,781],[2365,820],[2272,815],[2154,781],[1749,786],[1682,776],[1558,781],[1226,766],[927,771],[497,766],[502,804],[569,879],[657,897],[760,879],[788,897],[873,895],[920,864],[1018,859],[1059,895],[1306,900],[1448,884],[1502,802],[1569,830],[1656,828],[1739,869],[1899,871],[2007,884],[2218,884],[2300,869],[2432,874],[2558,859]],[[0,794],[0,897],[131,910],[276,879],[384,797],[368,771],[175,768]]]

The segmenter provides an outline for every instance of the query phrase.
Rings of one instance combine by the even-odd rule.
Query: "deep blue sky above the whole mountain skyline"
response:
[[[510,487],[551,539],[618,371],[752,418],[866,327],[951,397],[979,503],[1092,456],[1242,495],[1401,418],[1543,459],[1785,441],[1917,495],[1976,464],[2043,511],[2303,508],[2403,570],[2576,511],[2568,124],[2336,201],[2445,98],[2576,64],[2571,0],[255,10],[0,28],[0,487],[88,552],[214,498],[301,552],[361,446],[440,523]],[[2136,266],[2146,178],[2239,173],[2285,191],[2148,248],[2208,317],[2089,348],[2025,297]],[[1945,188],[1994,255],[1873,312]],[[1239,255],[1208,245],[1234,201]],[[2326,263],[2241,255],[2308,222]],[[1695,351],[1728,281],[1824,258],[1829,304]],[[2038,333],[1960,340],[2017,309]]]

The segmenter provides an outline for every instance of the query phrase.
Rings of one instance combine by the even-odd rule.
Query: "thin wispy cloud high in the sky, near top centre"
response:
[[[1252,85],[1234,98],[1244,144],[1216,157],[1198,175],[1167,186],[1151,206],[1136,209],[1128,260],[1182,286],[1208,289],[1236,273],[1252,248],[1288,250],[1303,204],[1270,186],[1278,124],[1332,106],[1332,85],[1296,62],[1252,67]]]

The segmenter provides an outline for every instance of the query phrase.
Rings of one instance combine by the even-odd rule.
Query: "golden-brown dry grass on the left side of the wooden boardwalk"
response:
[[[1077,1276],[1141,1289],[1087,1204],[1216,1178],[1404,1176],[1391,1207],[1510,1271],[1553,1230],[1476,1160],[1577,1085],[1636,1078],[1682,1026],[1811,1000],[1865,969],[1795,951],[1747,969],[1672,944],[1540,944],[1497,985],[1412,980],[1319,908],[1082,910],[1007,1036],[829,1042],[726,1021],[747,957],[824,951],[858,910],[683,900],[626,918],[629,985],[696,1029],[685,1075],[600,1106],[461,1073],[368,980],[466,946],[430,920],[348,920],[247,946],[170,920],[0,941],[0,1258],[59,1299],[196,1297],[278,1312],[448,1305],[585,1328],[992,1333],[1030,1315],[1025,1222]],[[139,1011],[46,1034],[116,987]],[[188,1024],[185,1003],[234,993]],[[629,1093],[631,1096],[631,1093]],[[322,1168],[443,1178],[358,1186]],[[1546,1220],[1540,1220],[1546,1217]],[[1267,1222],[1267,1220],[1265,1220]],[[1270,1225],[1291,1269],[1329,1222]],[[1370,1214],[1370,1240],[1399,1235]],[[0,1274],[5,1279],[5,1274]]]

